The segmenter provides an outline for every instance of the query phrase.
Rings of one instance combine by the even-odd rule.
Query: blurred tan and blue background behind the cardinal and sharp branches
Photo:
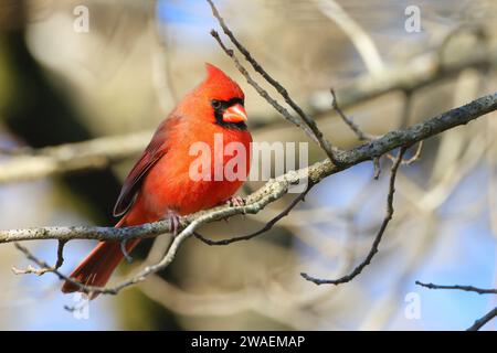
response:
[[[376,135],[497,87],[495,1],[216,4],[239,40],[340,148],[360,142],[334,114],[330,87],[347,115]],[[87,9],[87,31],[81,6]],[[176,101],[203,79],[204,62],[241,83],[255,141],[306,141],[245,83],[209,34],[212,28],[219,30],[200,0],[1,1],[0,228],[112,226],[123,179]],[[29,263],[12,245],[2,245],[0,329],[466,329],[495,307],[495,296],[427,290],[414,281],[497,286],[494,116],[425,141],[420,159],[401,168],[395,214],[380,253],[349,284],[317,287],[299,272],[336,278],[366,256],[383,217],[387,158],[379,180],[369,162],[331,175],[277,227],[250,242],[213,247],[189,239],[165,274],[117,297],[101,296],[87,319],[64,310],[74,298],[59,291],[54,276],[13,275],[12,266]],[[33,167],[30,157],[50,152],[42,148],[108,136],[125,141],[124,156],[112,163],[67,173],[59,165],[49,176],[13,172]],[[309,152],[310,162],[325,157],[313,143]],[[248,182],[242,193],[261,185]],[[290,197],[202,233],[213,238],[250,233]],[[168,236],[144,242],[114,280],[157,260],[168,242]],[[55,260],[55,242],[27,245]],[[70,242],[62,270],[68,274],[93,246]],[[413,303],[420,309],[414,317]]]

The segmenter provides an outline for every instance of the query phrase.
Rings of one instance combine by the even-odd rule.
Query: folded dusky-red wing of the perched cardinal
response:
[[[131,207],[145,175],[167,153],[169,149],[168,135],[179,120],[180,117],[173,116],[162,121],[158,127],[150,143],[148,143],[123,184],[119,197],[114,206],[114,216],[121,216]]]

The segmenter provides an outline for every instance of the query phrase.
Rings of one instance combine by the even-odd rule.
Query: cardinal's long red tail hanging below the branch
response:
[[[124,226],[124,220],[116,224],[116,227]],[[126,250],[131,252],[140,239],[135,239],[126,245]],[[92,253],[71,274],[71,278],[86,286],[104,287],[112,274],[119,265],[124,254],[118,242],[101,242]],[[78,291],[78,287],[70,281],[62,286],[64,293]],[[91,299],[97,295],[92,295]]]

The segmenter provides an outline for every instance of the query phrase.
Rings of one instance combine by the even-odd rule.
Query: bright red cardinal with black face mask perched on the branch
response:
[[[243,145],[246,151],[243,176],[250,170],[252,137],[245,125],[244,94],[221,69],[211,64],[205,64],[205,67],[207,78],[184,96],[159,125],[126,178],[114,207],[114,215],[121,216],[116,227],[162,218],[170,218],[177,224],[178,216],[230,201],[242,185],[241,178],[231,181],[213,178],[215,163],[208,170],[212,178],[192,180],[190,175],[190,165],[197,158],[191,156],[190,147],[195,142],[205,142],[214,150],[216,133],[222,137],[224,146],[230,142]],[[230,159],[230,156],[221,156],[224,164]],[[138,243],[139,239],[129,242],[126,250],[130,252]],[[87,286],[103,287],[123,257],[120,243],[101,242],[70,277]],[[63,292],[77,290],[78,287],[70,281],[62,287]]]

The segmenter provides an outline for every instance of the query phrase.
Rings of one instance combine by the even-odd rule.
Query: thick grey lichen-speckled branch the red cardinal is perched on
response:
[[[456,126],[465,125],[478,117],[497,109],[497,93],[475,99],[462,107],[451,109],[426,121],[420,122],[406,129],[394,130],[381,138],[342,151],[338,158],[341,163],[334,165],[328,160],[317,162],[308,168],[287,172],[276,179],[269,180],[265,185],[252,193],[246,199],[246,205],[231,207],[228,205],[201,211],[180,220],[180,228],[184,228],[191,222],[202,215],[212,215],[210,221],[230,217],[243,212],[257,213],[271,202],[284,195],[292,184],[300,180],[310,183],[319,183],[322,179],[334,173],[346,170],[367,160],[380,157],[398,147],[409,146],[424,140]],[[271,195],[271,197],[266,197]],[[114,228],[95,226],[71,226],[71,227],[42,227],[0,231],[0,244],[21,240],[38,239],[98,239],[98,240],[124,240],[133,238],[148,238],[170,232],[168,221],[144,224],[135,227]]]

